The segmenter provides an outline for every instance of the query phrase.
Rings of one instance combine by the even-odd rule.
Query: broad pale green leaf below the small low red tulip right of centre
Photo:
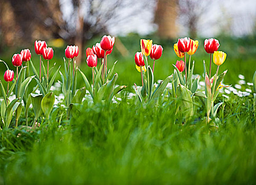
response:
[[[181,98],[179,106],[184,116],[189,119],[193,115],[193,101],[190,96],[190,91],[185,86],[179,85],[176,94],[178,98]]]

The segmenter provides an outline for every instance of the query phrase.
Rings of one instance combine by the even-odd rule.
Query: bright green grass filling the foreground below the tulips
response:
[[[184,124],[182,113],[174,116],[172,100],[145,109],[136,101],[85,103],[70,124],[42,122],[32,132],[21,127],[0,131],[2,182],[255,184],[251,96],[227,100],[218,128],[200,119],[205,115],[200,106]]]

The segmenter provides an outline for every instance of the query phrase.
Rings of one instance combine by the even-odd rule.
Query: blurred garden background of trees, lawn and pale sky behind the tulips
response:
[[[62,65],[66,45],[78,45],[77,63],[89,77],[86,48],[100,42],[103,35],[112,35],[116,42],[109,67],[118,60],[118,84],[131,86],[134,82],[140,85],[134,62],[140,39],[153,39],[153,43],[163,46],[155,78],[164,79],[179,59],[173,51],[178,38],[199,40],[198,51],[192,56],[199,75],[203,72],[202,61],[209,63],[204,40],[216,38],[219,50],[227,53],[220,67],[220,71],[228,69],[225,84],[234,84],[239,74],[251,82],[256,69],[255,8],[254,0],[0,0],[0,59],[13,68],[13,54],[29,48],[37,65],[39,57],[33,44],[45,40],[54,48],[51,63]],[[0,65],[3,73],[4,64]]]

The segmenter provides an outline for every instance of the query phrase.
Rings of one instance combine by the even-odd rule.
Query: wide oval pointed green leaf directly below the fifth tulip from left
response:
[[[43,114],[49,119],[52,108],[54,108],[55,95],[54,92],[48,92],[41,101],[41,109]]]

